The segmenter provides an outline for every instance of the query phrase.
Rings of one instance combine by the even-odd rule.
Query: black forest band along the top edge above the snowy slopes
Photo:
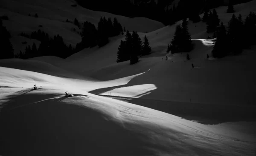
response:
[[[224,0],[180,0],[177,6],[169,8],[173,1],[157,0],[156,3],[155,0],[76,0],[80,6],[90,10],[105,11],[126,17],[147,17],[165,25],[172,25],[184,18],[196,22],[200,19],[198,15],[205,9],[225,5]],[[250,0],[232,0],[232,5],[248,1]]]

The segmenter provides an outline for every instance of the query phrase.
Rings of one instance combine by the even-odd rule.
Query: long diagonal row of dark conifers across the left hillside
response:
[[[80,27],[77,19],[74,20],[74,23],[76,26]],[[116,17],[113,19],[113,22],[111,21],[111,18],[106,20],[105,17],[101,17],[97,29],[93,23],[85,21],[82,25],[81,42],[76,44],[76,48],[73,48],[71,45],[65,45],[63,38],[59,34],[51,38],[49,37],[49,34],[41,31],[40,29],[38,31],[33,31],[30,35],[21,33],[20,36],[39,40],[41,41],[41,44],[38,49],[36,48],[35,43],[32,47],[28,45],[24,52],[20,51],[19,54],[15,55],[15,57],[21,59],[41,56],[67,58],[84,48],[92,48],[96,45],[102,47],[108,43],[108,37],[113,37],[120,33],[123,34],[123,28],[117,21]]]

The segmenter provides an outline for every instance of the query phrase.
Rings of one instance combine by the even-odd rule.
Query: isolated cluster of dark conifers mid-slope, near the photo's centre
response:
[[[116,62],[130,60],[130,64],[134,64],[138,62],[138,56],[148,55],[150,52],[151,47],[146,36],[144,37],[144,42],[142,43],[136,31],[133,31],[132,34],[129,31],[126,31],[125,41],[121,40],[117,51]]]

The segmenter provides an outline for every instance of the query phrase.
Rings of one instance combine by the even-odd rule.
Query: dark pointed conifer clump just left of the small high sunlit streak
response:
[[[167,53],[171,51],[172,54],[179,52],[189,52],[193,48],[191,35],[188,30],[188,21],[183,19],[182,24],[176,26],[174,37],[168,45]]]

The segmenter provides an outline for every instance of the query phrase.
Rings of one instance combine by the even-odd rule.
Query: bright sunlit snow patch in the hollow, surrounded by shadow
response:
[[[154,84],[133,85],[128,87],[115,88],[111,91],[102,93],[102,95],[139,98],[141,96],[150,94],[155,89],[157,89],[157,87]]]

